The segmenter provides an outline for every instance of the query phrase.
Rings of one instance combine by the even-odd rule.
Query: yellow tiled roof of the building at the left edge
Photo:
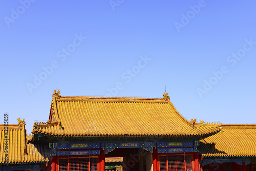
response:
[[[28,143],[31,136],[26,135],[25,122],[22,122],[24,124],[8,124],[7,131],[4,124],[0,124],[0,163],[46,162],[45,148],[42,144]]]

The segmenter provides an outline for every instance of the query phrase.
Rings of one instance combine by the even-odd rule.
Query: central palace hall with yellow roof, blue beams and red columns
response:
[[[61,96],[55,91],[46,123],[34,123],[31,143],[50,148],[50,170],[105,171],[122,157],[123,170],[201,170],[199,141],[220,124],[188,121],[163,98]]]

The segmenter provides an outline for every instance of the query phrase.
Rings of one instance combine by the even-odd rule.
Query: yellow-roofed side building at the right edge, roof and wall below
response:
[[[256,170],[256,125],[223,124],[220,133],[200,140],[203,170]]]

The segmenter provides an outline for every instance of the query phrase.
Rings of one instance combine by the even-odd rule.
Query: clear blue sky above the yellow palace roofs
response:
[[[256,123],[256,2],[1,2],[0,118],[61,95],[157,97],[188,120]],[[1,117],[1,116],[0,116]]]

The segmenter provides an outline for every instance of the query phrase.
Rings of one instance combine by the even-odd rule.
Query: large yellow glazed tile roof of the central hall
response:
[[[164,98],[84,97],[53,94],[47,123],[32,133],[56,136],[193,136],[221,130],[182,117]]]

